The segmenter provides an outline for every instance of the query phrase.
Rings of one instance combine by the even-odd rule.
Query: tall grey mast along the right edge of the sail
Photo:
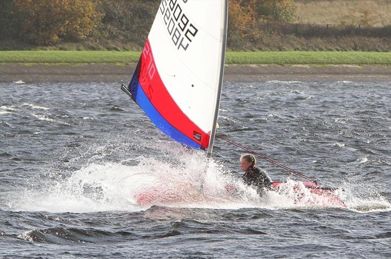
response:
[[[213,117],[213,125],[211,130],[211,136],[209,140],[208,146],[208,157],[212,155],[213,144],[215,142],[215,134],[216,134],[216,125],[218,118],[218,108],[220,107],[220,98],[221,98],[221,87],[223,84],[223,76],[224,76],[224,63],[225,63],[225,48],[227,43],[227,27],[228,27],[228,0],[223,0],[224,8],[223,8],[223,33],[222,33],[222,46],[221,46],[221,55],[220,55],[220,74],[218,79],[218,88],[217,88],[217,100],[215,106],[215,114]]]

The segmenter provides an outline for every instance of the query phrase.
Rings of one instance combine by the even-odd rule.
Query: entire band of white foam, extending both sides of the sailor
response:
[[[148,143],[146,145],[150,147]],[[167,156],[164,159],[139,156],[112,163],[104,162],[105,155],[115,150],[108,150],[105,146],[91,147],[88,152],[95,154],[91,154],[89,160],[94,162],[74,171],[66,179],[47,177],[49,180],[41,188],[23,190],[18,193],[18,198],[14,195],[9,207],[22,211],[73,213],[141,211],[152,205],[273,210],[341,207],[326,196],[312,194],[302,183],[293,180],[284,184],[279,192],[270,191],[260,198],[254,189],[241,182],[239,175],[229,176],[218,162],[208,160],[201,151],[188,151],[167,142],[154,142],[153,147],[154,152]],[[227,191],[228,185],[235,190],[234,193]],[[297,198],[298,192],[300,199]],[[383,199],[363,200],[348,191],[343,192],[341,198],[352,209],[367,203],[380,203],[385,210],[391,208],[391,204]]]

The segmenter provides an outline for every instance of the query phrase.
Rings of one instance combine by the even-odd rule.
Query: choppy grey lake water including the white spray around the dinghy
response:
[[[224,84],[218,132],[345,190],[348,208],[259,198],[237,181],[241,151],[184,149],[118,84],[0,89],[0,257],[391,256],[390,82]]]

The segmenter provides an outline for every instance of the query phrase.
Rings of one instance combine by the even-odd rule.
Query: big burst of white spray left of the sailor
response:
[[[158,147],[159,143],[156,144]],[[248,196],[228,197],[225,184],[229,179],[221,175],[221,167],[213,160],[208,161],[204,153],[189,154],[183,148],[171,151],[179,161],[140,156],[135,166],[126,165],[126,160],[88,164],[66,180],[49,183],[42,190],[26,191],[10,207],[22,211],[83,213],[140,211],[152,205],[227,209],[255,206]],[[249,189],[255,192],[238,186],[243,194]],[[152,195],[152,200],[145,202],[148,195]],[[140,201],[140,197],[144,200]]]

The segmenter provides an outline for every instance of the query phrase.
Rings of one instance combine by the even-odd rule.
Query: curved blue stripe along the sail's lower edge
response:
[[[140,83],[135,76],[130,82],[129,90],[133,96],[133,100],[145,111],[156,127],[159,128],[163,133],[189,147],[205,150],[203,147],[201,147],[201,145],[191,140],[179,130],[175,129],[160,115],[160,113],[153,107],[151,101],[146,96],[143,88],[141,88]]]

